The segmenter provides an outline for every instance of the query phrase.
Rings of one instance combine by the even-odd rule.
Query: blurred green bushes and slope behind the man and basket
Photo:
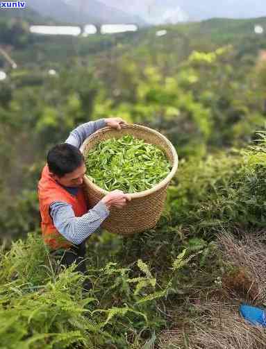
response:
[[[17,26],[28,35],[26,18],[1,21],[17,40]],[[251,40],[253,24],[217,19],[169,26],[156,40],[157,29],[150,28],[114,37],[38,37],[38,42],[29,37],[27,48],[15,45],[11,56],[19,68],[7,71],[0,85],[0,160],[6,164],[1,236],[35,230],[38,214],[29,191],[47,150],[90,119],[117,114],[156,128],[186,161],[250,142],[265,124],[265,69],[263,62],[257,64],[265,46],[258,35]]]

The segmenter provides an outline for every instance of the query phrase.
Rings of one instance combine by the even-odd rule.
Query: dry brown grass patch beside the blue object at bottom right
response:
[[[240,317],[238,307],[248,303],[263,307],[265,295],[265,239],[262,231],[218,236],[224,261],[222,287],[201,289],[198,298],[172,312],[173,328],[158,339],[160,349],[260,349],[266,330]],[[222,295],[222,297],[221,297]]]

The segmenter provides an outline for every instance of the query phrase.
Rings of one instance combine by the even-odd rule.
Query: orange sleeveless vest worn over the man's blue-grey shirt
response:
[[[49,207],[55,201],[63,201],[72,205],[74,214],[77,217],[83,216],[88,212],[87,203],[83,189],[78,190],[77,196],[72,196],[66,189],[54,180],[49,173],[46,165],[42,170],[42,177],[38,183],[38,196],[40,203],[40,214],[42,216],[42,236],[45,244],[53,250],[58,248],[69,248],[72,246],[53,225],[53,220],[49,214]]]

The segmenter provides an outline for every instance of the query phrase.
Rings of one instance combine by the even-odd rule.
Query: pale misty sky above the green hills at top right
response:
[[[108,6],[139,15],[151,24],[201,21],[214,17],[250,18],[266,15],[263,0],[101,0]]]

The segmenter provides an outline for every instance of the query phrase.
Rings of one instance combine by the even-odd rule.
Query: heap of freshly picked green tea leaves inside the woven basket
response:
[[[87,176],[99,187],[135,193],[151,189],[172,169],[165,153],[133,135],[97,144],[85,158]]]

